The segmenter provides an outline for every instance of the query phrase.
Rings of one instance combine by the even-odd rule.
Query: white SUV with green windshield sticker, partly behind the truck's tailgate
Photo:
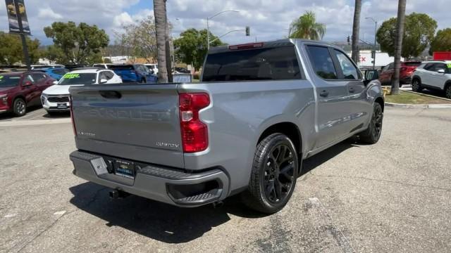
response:
[[[42,107],[47,112],[63,112],[70,110],[69,88],[84,84],[121,84],[122,79],[111,70],[98,68],[75,70],[65,74],[55,85],[42,91]]]

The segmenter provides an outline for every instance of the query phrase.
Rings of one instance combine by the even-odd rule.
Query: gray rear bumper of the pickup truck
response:
[[[82,179],[179,207],[198,207],[223,200],[229,191],[228,176],[221,169],[194,174],[139,163],[140,166],[135,165],[135,179],[128,179],[109,173],[106,162],[111,157],[74,151],[70,160],[75,167],[73,174]]]

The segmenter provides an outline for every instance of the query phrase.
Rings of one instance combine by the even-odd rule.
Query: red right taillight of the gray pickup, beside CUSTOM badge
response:
[[[199,119],[199,110],[210,105],[207,93],[181,93],[178,97],[183,152],[194,153],[209,146],[208,128]]]

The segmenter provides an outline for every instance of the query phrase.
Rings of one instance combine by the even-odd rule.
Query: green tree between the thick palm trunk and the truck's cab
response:
[[[204,59],[208,51],[206,44],[207,32],[204,30],[188,29],[180,34],[180,38],[175,39],[175,57],[183,63],[192,64],[195,69],[199,69],[204,64]],[[221,46],[223,42],[210,32],[210,40],[214,40],[210,46]]]

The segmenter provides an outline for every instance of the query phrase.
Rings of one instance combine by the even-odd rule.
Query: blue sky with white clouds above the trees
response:
[[[153,14],[152,0],[25,0],[32,38],[42,44],[51,44],[43,28],[52,22],[69,20],[87,22],[104,29],[115,41],[115,31],[123,25],[137,22]],[[211,32],[217,36],[231,30],[221,38],[228,44],[248,43],[256,40],[283,39],[288,36],[292,20],[305,11],[314,11],[317,22],[326,25],[325,41],[346,41],[352,34],[354,0],[168,0],[168,19],[173,24],[173,36],[188,28],[206,28],[206,18],[225,10],[239,11],[223,13],[209,22]],[[426,13],[438,22],[438,29],[451,27],[450,0],[407,0],[407,14]],[[360,39],[374,40],[375,23],[397,15],[396,0],[363,0]],[[245,36],[249,26],[251,36]],[[0,30],[8,32],[6,5],[0,3]]]

